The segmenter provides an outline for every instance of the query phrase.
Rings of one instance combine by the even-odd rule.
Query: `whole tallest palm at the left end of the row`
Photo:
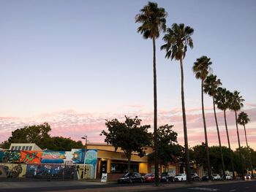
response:
[[[157,67],[156,67],[156,39],[160,31],[166,30],[167,12],[162,7],[157,7],[157,3],[148,2],[140,14],[136,15],[135,23],[142,23],[138,27],[138,33],[143,34],[145,39],[153,41],[153,72],[154,72],[154,153],[155,153],[155,182],[159,183],[158,170],[158,145],[157,145]]]

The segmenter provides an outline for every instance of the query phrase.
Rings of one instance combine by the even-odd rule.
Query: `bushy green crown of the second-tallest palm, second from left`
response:
[[[167,34],[162,39],[166,42],[161,46],[161,50],[166,50],[165,58],[175,58],[180,60],[184,58],[187,52],[187,45],[193,48],[193,41],[190,36],[194,33],[194,29],[184,26],[184,23],[173,23],[171,28],[167,28]]]

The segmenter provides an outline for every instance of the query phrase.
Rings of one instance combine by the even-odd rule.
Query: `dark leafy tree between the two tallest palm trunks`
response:
[[[168,162],[176,162],[177,157],[181,154],[181,145],[178,145],[177,136],[178,134],[173,131],[173,126],[166,124],[165,126],[160,126],[157,129],[157,138],[159,145],[159,164],[166,166]],[[148,157],[149,159],[154,158],[154,153],[151,153]]]

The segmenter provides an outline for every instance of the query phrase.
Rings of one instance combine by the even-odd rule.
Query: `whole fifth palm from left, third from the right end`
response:
[[[230,150],[230,161],[231,161],[231,168],[232,168],[232,173],[233,173],[233,180],[236,179],[236,174],[235,174],[235,169],[234,169],[234,164],[233,164],[233,154],[232,150],[230,147],[230,137],[228,134],[227,130],[227,116],[226,116],[226,111],[230,107],[230,101],[232,98],[233,93],[228,91],[226,88],[217,88],[217,95],[216,95],[216,104],[219,110],[223,111],[224,114],[224,120],[225,120],[225,128],[226,128],[226,133],[227,133],[227,143],[228,143],[228,148]]]

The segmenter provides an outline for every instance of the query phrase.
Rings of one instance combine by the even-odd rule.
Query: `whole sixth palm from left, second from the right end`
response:
[[[240,137],[239,137],[239,131],[238,131],[238,120],[237,120],[237,112],[241,110],[241,107],[244,106],[243,104],[244,99],[242,96],[239,96],[238,91],[233,92],[233,97],[231,99],[230,104],[230,110],[233,110],[235,112],[235,119],[236,119],[236,133],[238,138],[238,147],[239,147],[239,158],[240,158],[240,171],[241,171],[241,177],[244,179],[244,164],[242,161],[242,155],[241,155],[241,145],[240,145]]]

